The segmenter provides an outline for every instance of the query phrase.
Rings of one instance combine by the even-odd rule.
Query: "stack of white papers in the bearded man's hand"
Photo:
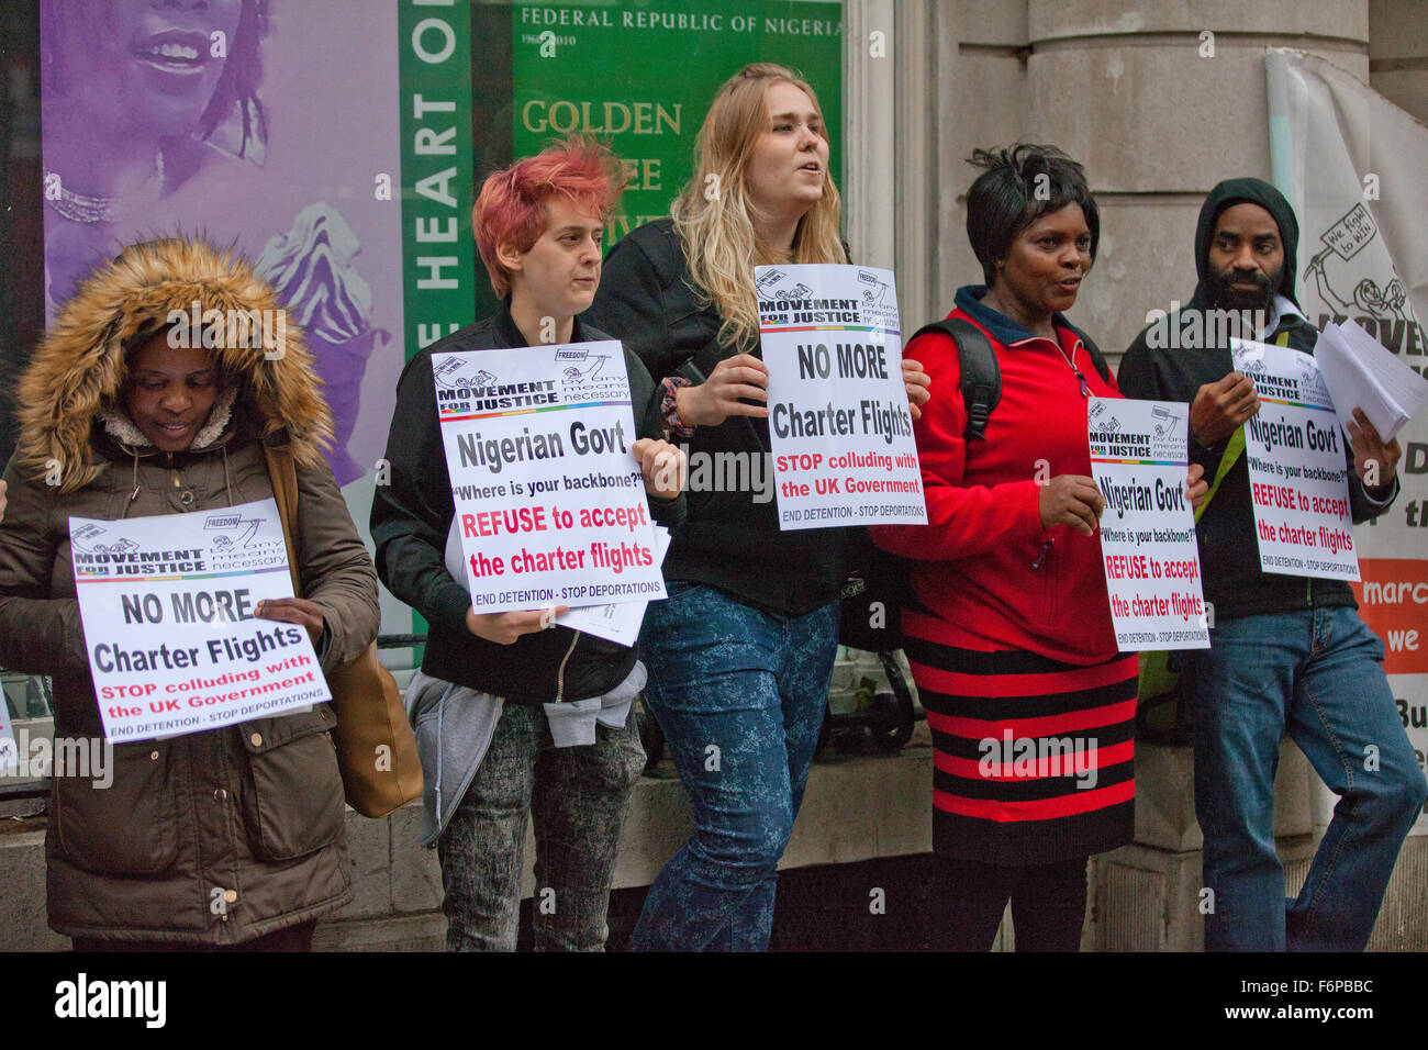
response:
[[[1354,409],[1362,409],[1384,441],[1428,401],[1428,381],[1354,321],[1329,323],[1314,344],[1314,360],[1347,429]]]

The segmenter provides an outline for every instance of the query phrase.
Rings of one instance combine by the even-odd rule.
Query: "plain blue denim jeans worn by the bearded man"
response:
[[[1221,620],[1191,661],[1195,813],[1211,951],[1359,951],[1428,790],[1352,609]],[[1274,773],[1288,733],[1339,796],[1304,889],[1284,897]]]

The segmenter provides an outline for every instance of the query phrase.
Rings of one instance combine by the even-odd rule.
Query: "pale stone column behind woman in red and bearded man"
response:
[[[1118,357],[1190,297],[1204,194],[1269,177],[1264,49],[1368,80],[1367,0],[1028,0],[1025,123],[1085,164],[1101,250],[1072,317]]]

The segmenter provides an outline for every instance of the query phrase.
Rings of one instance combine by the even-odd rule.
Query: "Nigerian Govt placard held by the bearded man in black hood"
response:
[[[1268,343],[1235,339],[1231,347],[1259,396],[1259,411],[1245,424],[1259,567],[1357,580],[1345,439],[1318,366]]]

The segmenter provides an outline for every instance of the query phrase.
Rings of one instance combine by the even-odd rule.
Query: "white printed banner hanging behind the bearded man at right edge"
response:
[[[1354,320],[1419,374],[1428,366],[1428,127],[1337,66],[1269,49],[1269,156],[1299,219],[1299,306],[1317,326]],[[1428,419],[1398,434],[1402,491],[1358,529],[1364,621],[1418,751],[1428,754]],[[1328,821],[1327,789],[1317,810]],[[1428,816],[1415,834],[1428,834]]]

